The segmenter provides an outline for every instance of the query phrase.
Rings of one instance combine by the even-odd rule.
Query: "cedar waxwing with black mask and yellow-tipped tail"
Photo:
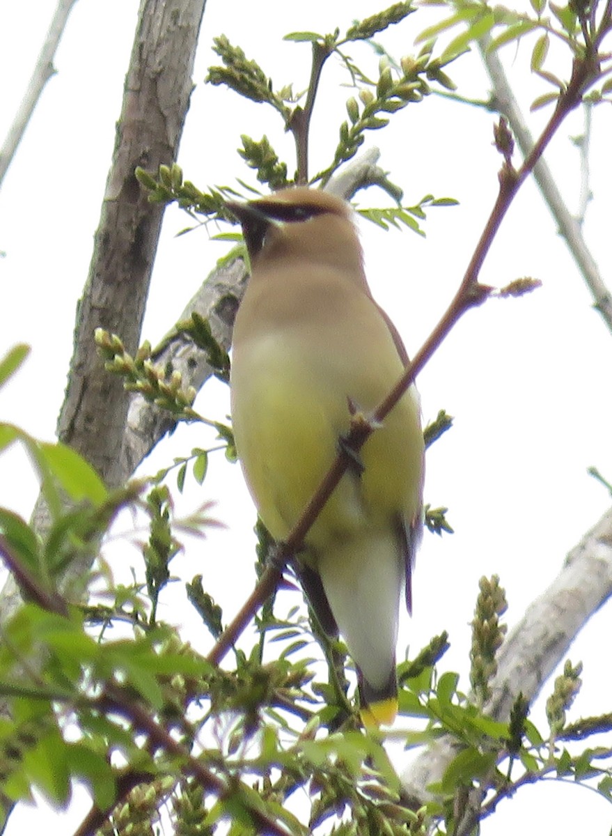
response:
[[[348,204],[296,187],[230,204],[252,275],[233,333],[232,421],[258,512],[287,538],[349,431],[407,363],[400,335],[371,297]],[[358,670],[366,725],[397,711],[401,590],[421,531],[423,435],[414,386],[360,451],[310,529],[297,574],[324,631],[343,635]]]

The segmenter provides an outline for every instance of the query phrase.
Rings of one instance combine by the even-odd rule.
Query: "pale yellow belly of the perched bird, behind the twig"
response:
[[[395,350],[395,349],[393,349]],[[366,413],[401,373],[390,351],[385,364],[340,352],[320,354],[284,334],[242,346],[234,364],[232,419],[238,455],[260,515],[274,538],[286,538],[349,429],[348,399]],[[235,396],[238,392],[239,397]],[[366,525],[385,526],[419,512],[422,434],[410,390],[365,442],[364,472],[345,474],[309,533],[315,551]]]

